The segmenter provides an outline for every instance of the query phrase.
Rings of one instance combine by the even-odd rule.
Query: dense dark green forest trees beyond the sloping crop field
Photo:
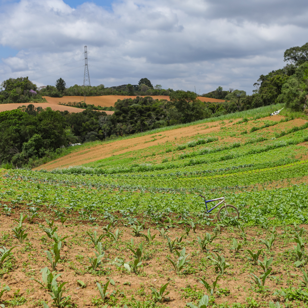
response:
[[[93,105],[82,103],[78,107],[85,110],[79,113],[35,108],[33,104],[1,112],[0,164],[11,162],[16,167],[32,167],[35,161],[59,154],[71,143],[115,138],[274,103],[286,103],[286,107],[293,110],[308,112],[308,43],[286,50],[284,59],[290,63],[282,69],[261,75],[254,84],[252,95],[246,95],[242,90],[223,91],[222,87],[203,95],[225,99],[222,103],[201,102],[191,91],[163,90],[160,85],[153,87],[150,80],[143,78],[138,85],[119,86],[116,91],[127,91],[131,95],[147,95],[150,91],[166,94],[164,91],[168,91],[170,100],[155,100],[151,96],[119,99],[112,108],[115,111],[113,115],[94,111]],[[54,95],[79,95],[78,89],[81,88],[66,88],[65,81],[60,78],[56,87],[37,89],[28,77],[21,77],[2,83],[0,100],[2,103],[35,102],[42,100],[42,95],[46,94],[44,91],[54,91]],[[87,95],[91,91],[91,95],[102,95],[99,91],[105,89],[103,85],[86,88],[89,91]]]

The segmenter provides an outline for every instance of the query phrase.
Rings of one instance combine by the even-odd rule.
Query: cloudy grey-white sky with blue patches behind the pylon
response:
[[[0,82],[138,84],[252,94],[308,41],[303,0],[0,0]]]

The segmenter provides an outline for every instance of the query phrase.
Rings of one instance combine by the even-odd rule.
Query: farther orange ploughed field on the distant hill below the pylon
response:
[[[148,96],[148,95],[145,95]],[[47,102],[58,104],[61,102],[62,104],[67,104],[68,102],[80,102],[83,101],[83,96],[63,96],[61,98],[59,97],[49,97],[49,96],[43,96]],[[86,96],[86,103],[87,104],[93,104],[94,106],[102,106],[102,107],[111,107],[114,106],[115,102],[118,99],[124,99],[124,98],[136,98],[137,96],[123,96],[123,95],[103,95],[103,96]],[[144,96],[142,96],[144,97]],[[167,99],[169,100],[168,95],[151,95],[153,99]],[[200,99],[202,102],[224,102],[224,99],[213,99],[208,97],[201,97],[198,96],[198,99]],[[67,110],[67,109],[66,109]]]

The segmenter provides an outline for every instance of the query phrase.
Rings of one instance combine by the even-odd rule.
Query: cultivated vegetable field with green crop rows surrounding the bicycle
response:
[[[1,304],[307,307],[308,122],[266,112],[70,168],[1,169]],[[204,215],[198,194],[239,220]]]

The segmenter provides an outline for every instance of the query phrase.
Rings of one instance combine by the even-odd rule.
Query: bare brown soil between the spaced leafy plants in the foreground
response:
[[[1,278],[1,283],[5,283],[11,288],[10,292],[2,296],[2,301],[8,301],[13,298],[14,292],[19,289],[19,294],[27,299],[26,304],[19,307],[37,307],[39,306],[38,300],[47,301],[49,306],[51,306],[52,301],[48,291],[43,289],[37,282],[30,279],[35,278],[41,281],[40,269],[45,266],[50,268],[50,263],[47,260],[44,250],[51,249],[52,240],[48,239],[38,224],[30,225],[29,223],[25,224],[28,236],[24,243],[20,244],[17,239],[12,239],[10,228],[16,225],[16,221],[14,221],[13,218],[19,217],[21,208],[23,208],[23,206],[19,209],[15,209],[15,213],[11,217],[6,217],[4,214],[0,217],[0,232],[2,232],[2,235],[7,233],[10,235],[2,245],[7,247],[19,245],[13,249],[15,259],[15,261],[13,261],[13,270],[4,274]],[[43,216],[47,217],[49,220],[55,218],[47,209],[41,208],[41,210]],[[44,223],[43,217],[40,217],[37,222]],[[186,247],[186,253],[190,253],[188,259],[190,259],[192,269],[195,270],[188,274],[178,275],[175,274],[172,270],[171,263],[166,259],[167,256],[170,256],[172,259],[175,258],[173,253],[170,253],[167,248],[167,240],[160,237],[156,229],[151,229],[152,235],[156,234],[156,239],[148,244],[144,237],[133,237],[131,228],[123,227],[121,223],[119,226],[115,226],[115,228],[119,228],[123,233],[117,245],[112,244],[110,239],[103,238],[103,246],[106,245],[104,249],[106,253],[105,257],[111,260],[114,260],[116,257],[121,257],[124,258],[125,261],[132,261],[132,253],[128,249],[131,238],[134,239],[136,247],[140,242],[143,242],[143,253],[148,253],[149,257],[147,260],[143,261],[143,267],[137,275],[129,274],[126,270],[123,270],[123,268],[116,269],[115,265],[108,264],[108,262],[110,263],[111,261],[107,260],[101,266],[101,269],[107,271],[105,274],[102,272],[91,273],[86,270],[86,267],[90,265],[87,255],[93,257],[93,251],[95,250],[90,240],[87,238],[86,232],[90,231],[93,233],[94,230],[96,230],[98,234],[103,234],[104,231],[101,227],[87,225],[86,222],[76,221],[70,218],[70,216],[65,223],[67,227],[61,226],[59,221],[56,221],[56,225],[58,225],[58,234],[63,233],[63,236],[70,236],[63,242],[61,261],[56,267],[57,272],[62,273],[62,276],[58,278],[58,282],[68,282],[63,295],[70,295],[76,307],[91,306],[91,299],[95,296],[98,298],[100,297],[96,282],[106,282],[107,276],[115,281],[115,286],[110,284],[107,291],[111,292],[112,290],[118,290],[119,292],[124,292],[127,299],[133,296],[141,302],[149,299],[149,287],[159,289],[162,284],[169,282],[167,291],[170,292],[168,295],[170,300],[164,303],[170,307],[184,307],[187,302],[192,301],[192,298],[189,296],[186,299],[181,298],[185,295],[184,290],[181,288],[191,286],[193,289],[193,287],[196,286],[199,292],[205,294],[206,291],[204,287],[199,283],[200,278],[204,278],[207,282],[212,283],[218,275],[218,273],[215,273],[212,261],[205,258],[211,255],[200,253],[197,244],[197,236],[203,238],[206,230],[211,232],[212,228],[209,227],[207,227],[206,230],[198,228],[196,234],[191,230],[188,237],[184,237],[182,247]],[[304,227],[307,228],[307,225],[304,225]],[[240,302],[244,304],[246,298],[249,296],[257,299],[258,302],[260,300],[269,302],[273,301],[273,299],[276,301],[277,299],[271,295],[274,293],[275,289],[288,287],[290,284],[292,286],[298,284],[297,278],[294,279],[292,277],[297,277],[295,275],[301,274],[301,271],[295,269],[293,265],[290,265],[292,262],[286,261],[286,257],[282,256],[284,251],[293,249],[292,245],[294,243],[290,240],[284,243],[281,237],[281,231],[283,230],[280,228],[276,230],[279,240],[276,240],[274,249],[270,253],[266,249],[264,249],[264,253],[266,253],[268,257],[273,256],[274,262],[277,258],[282,258],[282,264],[276,263],[272,266],[273,274],[279,278],[279,281],[267,279],[265,287],[268,288],[269,291],[262,295],[250,290],[251,286],[254,286],[250,273],[260,276],[262,270],[259,266],[253,265],[252,262],[248,262],[247,257],[245,257],[245,249],[252,249],[255,251],[256,249],[265,248],[264,245],[260,243],[260,239],[269,236],[270,233],[268,231],[251,227],[246,228],[247,244],[244,245],[244,249],[241,249],[238,254],[230,250],[233,237],[237,238],[237,241],[243,240],[237,229],[221,229],[221,233],[219,233],[213,243],[207,245],[210,252],[214,251],[223,254],[226,258],[226,262],[230,264],[230,268],[227,269],[225,274],[218,280],[219,288],[227,288],[229,294],[220,296],[215,295],[215,302],[217,304],[226,302]],[[111,232],[114,231],[114,229],[111,229]],[[183,226],[170,228],[168,231],[168,236],[172,239],[176,236],[180,237],[184,233]],[[143,233],[146,232],[143,231]],[[211,233],[213,235],[213,232]],[[1,241],[3,242],[3,239]],[[30,249],[27,249],[26,246],[29,241],[32,246]],[[181,247],[177,248],[181,249]],[[202,259],[205,260],[203,263]],[[260,259],[263,260],[263,255],[260,256]],[[77,280],[83,281],[87,286],[85,288],[80,288]],[[130,285],[124,285],[124,283],[127,282],[129,282]],[[140,293],[142,288],[144,288],[144,293]],[[119,292],[116,296],[121,300],[123,297],[120,296]]]

